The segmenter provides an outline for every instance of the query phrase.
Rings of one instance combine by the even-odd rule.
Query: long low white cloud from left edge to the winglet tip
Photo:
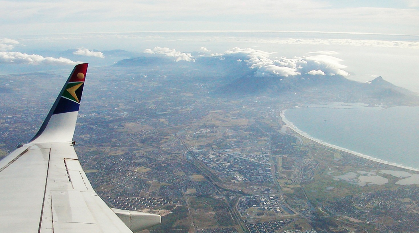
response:
[[[0,63],[32,65],[77,65],[83,62],[74,62],[64,57],[54,58],[21,52],[0,52]]]

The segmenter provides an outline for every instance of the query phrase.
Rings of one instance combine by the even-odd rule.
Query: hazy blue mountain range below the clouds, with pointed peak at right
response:
[[[349,80],[341,75],[294,75],[288,77],[257,76],[237,57],[197,57],[194,62],[174,62],[169,57],[136,57],[119,61],[118,67],[165,69],[183,72],[176,79],[210,85],[213,96],[241,98],[243,96],[271,96],[298,100],[336,101],[393,105],[419,105],[418,93],[398,87],[381,76],[367,83]],[[188,71],[185,76],[184,71]],[[170,77],[168,77],[170,79]],[[187,87],[185,87],[187,88]]]

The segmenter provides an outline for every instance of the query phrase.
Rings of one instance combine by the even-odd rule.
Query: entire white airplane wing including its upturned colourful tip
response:
[[[160,215],[109,208],[72,140],[88,64],[76,65],[39,132],[0,161],[0,231],[132,233]]]

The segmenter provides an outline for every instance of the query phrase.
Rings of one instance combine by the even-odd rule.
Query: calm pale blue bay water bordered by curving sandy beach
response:
[[[328,103],[287,109],[285,117],[313,138],[419,169],[419,107]]]

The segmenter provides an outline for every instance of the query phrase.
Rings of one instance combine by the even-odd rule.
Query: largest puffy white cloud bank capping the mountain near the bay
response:
[[[326,52],[322,52],[323,54]],[[327,53],[331,53],[328,51]],[[329,55],[313,55],[307,57],[277,57],[269,58],[272,53],[246,48],[233,48],[225,55],[245,58],[248,66],[255,69],[256,76],[288,77],[304,74],[310,75],[349,75],[341,70],[347,66],[340,64],[342,60]]]

